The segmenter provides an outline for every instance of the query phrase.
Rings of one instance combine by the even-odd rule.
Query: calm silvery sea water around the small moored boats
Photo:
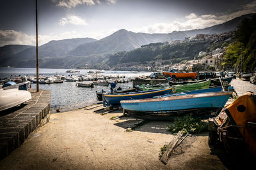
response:
[[[39,74],[45,76],[52,76],[54,74],[71,75],[71,74],[88,74],[88,71],[96,71],[93,69],[72,69],[80,71],[80,73],[65,73],[68,69],[39,69]],[[10,76],[34,76],[36,74],[35,68],[6,68],[0,67],[0,78],[10,78]],[[132,73],[131,71],[104,71],[99,75],[119,75],[125,78],[134,78],[136,76],[149,75],[147,72]],[[90,81],[88,81],[90,82]],[[118,83],[116,88],[128,89],[132,87],[132,82]],[[32,83],[32,89],[36,89],[36,84]],[[56,111],[60,108],[61,111],[74,110],[81,106],[86,106],[88,103],[97,101],[96,91],[106,90],[110,91],[110,87],[95,85],[93,88],[77,87],[76,82],[64,81],[63,83],[53,83],[50,85],[39,84],[39,89],[51,90],[51,110]]]

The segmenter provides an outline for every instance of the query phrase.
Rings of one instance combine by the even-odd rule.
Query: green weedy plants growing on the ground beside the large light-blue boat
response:
[[[202,122],[200,118],[192,117],[192,114],[184,117],[175,118],[174,124],[167,126],[167,131],[177,134],[182,131],[184,133],[196,134],[207,131],[207,123]]]

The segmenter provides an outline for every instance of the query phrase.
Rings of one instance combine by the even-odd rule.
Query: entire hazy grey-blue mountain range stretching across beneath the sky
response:
[[[181,40],[196,34],[220,34],[235,31],[244,18],[252,14],[234,18],[223,24],[205,29],[173,31],[169,34],[147,34],[120,29],[102,39],[76,38],[50,41],[39,46],[40,67],[83,67],[85,64],[107,62],[109,56],[134,50],[150,43]],[[145,49],[143,49],[145,50]],[[144,53],[145,54],[145,53]],[[141,55],[147,57],[146,55]],[[118,56],[118,55],[116,55]],[[0,66],[35,67],[35,46],[9,45],[0,47]],[[52,61],[52,62],[51,62]],[[123,62],[131,60],[122,59]]]

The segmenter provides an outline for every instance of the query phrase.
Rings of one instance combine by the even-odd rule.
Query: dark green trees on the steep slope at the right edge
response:
[[[223,66],[244,71],[256,67],[256,15],[241,22],[236,31],[236,41],[226,49]]]

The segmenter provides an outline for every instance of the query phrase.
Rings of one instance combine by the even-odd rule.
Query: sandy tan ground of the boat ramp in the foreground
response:
[[[221,157],[211,154],[208,132],[188,136],[164,165],[159,160],[159,150],[174,137],[165,129],[171,122],[150,121],[127,132],[126,128],[139,120],[131,117],[111,120],[111,117],[122,115],[122,111],[101,115],[100,111],[93,112],[98,108],[51,114],[49,123],[36,129],[20,148],[0,161],[0,169],[228,167]],[[236,162],[233,164],[236,166]]]

